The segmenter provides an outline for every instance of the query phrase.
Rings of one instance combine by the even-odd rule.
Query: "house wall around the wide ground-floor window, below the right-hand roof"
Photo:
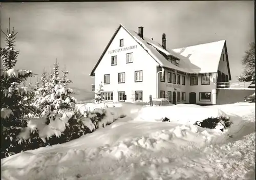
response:
[[[197,104],[216,104],[216,82],[217,82],[217,73],[211,73],[210,84],[202,85],[202,75],[198,75],[198,85],[190,85],[190,76],[187,80],[187,91],[188,91],[188,102],[189,102],[189,93],[196,93],[196,103]],[[200,92],[210,92],[211,99],[210,101],[200,101]]]

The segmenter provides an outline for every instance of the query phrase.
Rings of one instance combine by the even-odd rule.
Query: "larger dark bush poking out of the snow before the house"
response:
[[[203,127],[203,128],[209,128],[209,129],[220,129],[221,131],[224,131],[227,127],[230,127],[232,124],[232,121],[228,117],[219,116],[217,118],[207,118],[203,120],[202,122],[197,121],[194,125]]]

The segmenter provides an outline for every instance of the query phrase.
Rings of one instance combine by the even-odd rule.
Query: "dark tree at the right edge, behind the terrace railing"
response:
[[[255,43],[250,43],[250,49],[245,52],[242,64],[244,72],[238,77],[238,81],[255,81]]]

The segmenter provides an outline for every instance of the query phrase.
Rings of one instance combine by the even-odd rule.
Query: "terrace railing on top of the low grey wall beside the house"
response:
[[[255,82],[217,82],[217,88],[255,88]]]

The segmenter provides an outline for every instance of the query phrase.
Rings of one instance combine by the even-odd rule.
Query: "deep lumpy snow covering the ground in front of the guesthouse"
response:
[[[106,128],[3,159],[2,179],[255,179],[255,103],[115,107],[126,117]],[[193,125],[219,115],[226,132]]]

